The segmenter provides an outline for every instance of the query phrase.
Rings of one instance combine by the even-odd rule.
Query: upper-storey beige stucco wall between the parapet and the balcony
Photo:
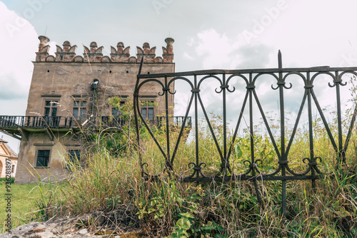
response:
[[[110,96],[133,97],[139,63],[76,63],[76,62],[34,62],[26,115],[44,115],[46,100],[57,100],[61,110],[57,115],[71,113],[75,98],[87,101],[91,113],[91,83],[99,80],[96,90],[96,105],[103,105]],[[174,63],[144,63],[143,73],[174,72]],[[149,83],[141,89],[141,96],[154,99],[159,106],[156,115],[163,113],[164,97],[159,83]],[[174,85],[171,87],[174,92]],[[149,100],[148,99],[148,100]],[[144,99],[143,99],[144,100]],[[169,95],[169,105],[174,106],[174,95]]]

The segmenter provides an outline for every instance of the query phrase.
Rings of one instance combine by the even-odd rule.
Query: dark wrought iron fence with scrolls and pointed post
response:
[[[141,61],[141,66],[143,61]],[[342,81],[342,77],[350,73],[351,76],[357,76],[357,67],[350,68],[330,68],[328,66],[323,67],[313,67],[313,68],[282,68],[281,63],[281,52],[278,52],[278,68],[263,68],[263,69],[245,69],[245,70],[207,70],[207,71],[191,71],[191,72],[181,72],[181,73],[159,73],[159,74],[141,74],[141,66],[139,69],[139,74],[137,75],[136,87],[134,90],[134,113],[136,119],[136,133],[137,140],[140,145],[140,134],[139,134],[139,121],[144,121],[143,116],[139,110],[139,96],[141,93],[141,88],[146,85],[146,83],[157,83],[161,86],[161,92],[158,92],[159,96],[164,97],[166,100],[166,112],[169,112],[168,108],[168,95],[169,93],[174,94],[176,91],[171,91],[171,86],[174,85],[174,82],[181,81],[186,83],[186,85],[191,90],[191,95],[189,96],[188,106],[186,109],[186,114],[183,118],[182,125],[185,125],[188,121],[188,113],[190,110],[193,110],[193,128],[198,128],[198,110],[203,113],[203,118],[206,120],[208,130],[211,133],[211,137],[216,145],[216,150],[218,152],[219,161],[221,163],[220,170],[216,175],[208,176],[203,172],[204,167],[206,166],[205,162],[202,162],[202,158],[199,154],[199,144],[198,140],[198,130],[194,130],[194,143],[196,143],[196,155],[195,160],[188,163],[187,167],[191,170],[191,175],[177,177],[181,182],[208,182],[208,181],[228,181],[228,180],[249,180],[252,181],[254,187],[256,188],[256,194],[258,200],[261,200],[259,195],[258,180],[280,180],[282,184],[282,207],[283,207],[283,216],[286,216],[286,181],[288,180],[311,180],[312,187],[315,187],[315,180],[319,179],[321,171],[318,169],[318,163],[323,160],[321,155],[314,150],[314,138],[313,138],[313,113],[312,107],[316,107],[319,117],[322,120],[324,130],[329,142],[331,143],[334,152],[336,152],[336,164],[346,161],[346,150],[348,149],[348,143],[351,139],[351,133],[353,132],[353,125],[356,120],[357,108],[355,106],[353,110],[353,115],[351,121],[349,122],[349,127],[347,135],[343,135],[342,130],[342,112],[341,112],[341,87],[346,86],[346,83]],[[328,116],[326,112],[321,108],[316,93],[314,92],[314,86],[317,76],[326,76],[330,82],[328,86],[331,88],[336,88],[336,115],[337,115],[337,140],[331,132],[330,125],[328,123]],[[271,86],[272,90],[278,90],[278,106],[279,106],[279,120],[280,120],[280,132],[278,139],[274,137],[272,129],[269,126],[268,118],[266,113],[263,110],[261,100],[258,97],[256,90],[257,79],[270,76],[276,81],[276,86]],[[286,80],[291,77],[298,78],[302,82],[301,90],[303,90],[303,97],[301,103],[299,104],[299,110],[296,114],[296,120],[293,124],[293,130],[291,135],[287,135],[285,131],[286,123],[286,108],[284,103],[284,93],[287,90],[293,90],[293,83],[286,83]],[[233,130],[233,135],[231,137],[227,136],[227,113],[231,108],[227,108],[227,95],[229,93],[236,92],[236,86],[233,85],[233,78],[238,79],[238,81],[243,82],[245,87],[245,93],[243,93],[243,101],[241,104],[238,113],[235,115],[237,123]],[[219,88],[216,88],[216,93],[221,95],[221,110],[222,110],[222,120],[223,120],[223,139],[218,142],[217,135],[214,131],[213,126],[211,125],[208,113],[206,111],[203,99],[201,97],[201,90],[203,82],[213,79],[218,82]],[[327,86],[327,83],[326,83]],[[253,100],[255,103],[253,103]],[[306,169],[303,172],[297,172],[291,166],[289,166],[289,152],[293,144],[293,139],[298,130],[298,125],[301,123],[301,115],[304,106],[307,104],[308,111],[308,157],[301,157],[304,163],[306,163]],[[256,148],[254,146],[254,123],[253,123],[253,108],[256,108],[260,112],[260,117],[263,120],[263,126],[266,128],[268,138],[273,145],[273,152],[275,152],[278,160],[276,162],[276,169],[273,172],[263,173],[259,169],[262,164],[262,160],[258,159],[255,155]],[[248,121],[248,134],[250,137],[250,160],[243,161],[243,164],[246,165],[246,171],[237,174],[232,170],[231,160],[233,153],[233,145],[236,142],[238,137],[238,128],[243,123],[243,113],[248,111],[249,121]],[[167,113],[166,115],[168,115]],[[166,117],[166,143],[165,146],[161,146],[158,140],[156,139],[154,133],[144,122],[146,129],[149,131],[151,137],[159,148],[162,157],[165,160],[164,171],[171,175],[178,175],[178,171],[174,171],[174,162],[176,162],[176,152],[178,150],[178,144],[181,141],[183,136],[183,126],[178,134],[178,138],[174,143],[174,147],[170,148],[172,140],[169,136],[169,117]],[[344,140],[343,140],[344,138]],[[147,180],[158,178],[157,175],[149,174],[146,170],[148,164],[142,160],[141,151],[139,151],[139,160],[141,165],[142,176]],[[290,155],[291,157],[291,155]]]

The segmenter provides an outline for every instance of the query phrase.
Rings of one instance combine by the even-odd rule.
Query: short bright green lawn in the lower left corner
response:
[[[7,212],[5,211],[5,182],[1,181],[0,192],[0,220],[1,220],[1,233],[6,229],[4,227],[4,220],[6,219]],[[11,222],[13,229],[36,220],[40,220],[39,206],[36,201],[43,200],[44,197],[49,195],[49,191],[54,188],[53,185],[38,185],[36,183],[26,185],[11,184]]]

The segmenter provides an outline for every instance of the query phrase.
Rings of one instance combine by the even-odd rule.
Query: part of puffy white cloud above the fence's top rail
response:
[[[187,46],[183,58],[201,62],[204,69],[264,68],[270,63],[273,50],[258,41],[247,43],[241,34],[232,38],[216,29],[197,33]]]

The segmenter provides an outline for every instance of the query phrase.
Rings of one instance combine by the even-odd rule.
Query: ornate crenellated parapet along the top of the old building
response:
[[[103,56],[103,46],[98,47],[96,42],[91,42],[89,48],[84,46],[83,56],[76,55],[77,46],[71,46],[69,41],[64,41],[63,48],[56,45],[56,57],[49,55],[50,41],[46,36],[39,36],[39,52],[36,52],[36,61],[56,61],[56,62],[119,62],[119,63],[139,63],[144,57],[144,63],[172,63],[174,53],[172,43],[173,38],[166,38],[166,48],[163,47],[163,55],[156,56],[156,46],[150,48],[149,43],[144,43],[143,48],[136,47],[136,57],[130,56],[130,46],[124,48],[124,43],[119,42],[116,48],[111,46],[109,56]]]

